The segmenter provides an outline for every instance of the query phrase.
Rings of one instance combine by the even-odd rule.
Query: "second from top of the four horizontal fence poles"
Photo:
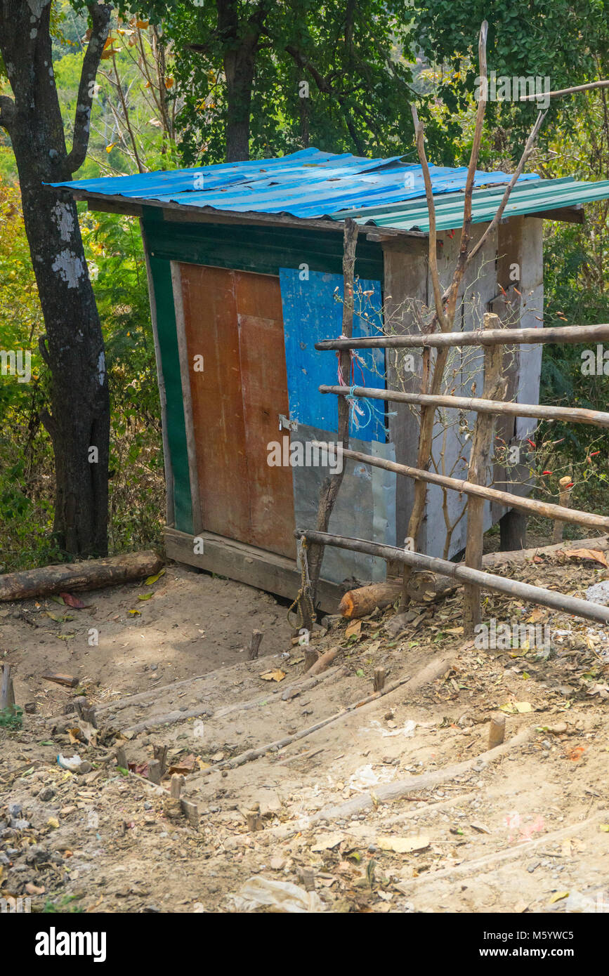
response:
[[[541,421],[565,421],[567,424],[590,424],[609,427],[609,413],[585,410],[582,407],[553,407],[541,403],[517,403],[512,400],[484,400],[475,396],[431,396],[429,393],[404,393],[401,389],[381,389],[376,386],[319,386],[320,393],[337,396],[360,396],[390,403],[413,403],[453,410],[473,410],[478,414],[501,414],[505,417],[534,417]]]

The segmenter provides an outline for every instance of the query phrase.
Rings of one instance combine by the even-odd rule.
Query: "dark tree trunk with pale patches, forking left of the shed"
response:
[[[85,158],[92,80],[107,37],[110,7],[91,4],[94,31],[83,65],[68,154],[53,72],[51,0],[0,2],[0,52],[15,99],[0,101],[0,125],[17,161],[23,218],[51,370],[51,413],[42,421],[55,456],[55,533],[71,556],[107,551],[109,397],[102,328],[87,270],[76,205],[44,183],[70,180]]]

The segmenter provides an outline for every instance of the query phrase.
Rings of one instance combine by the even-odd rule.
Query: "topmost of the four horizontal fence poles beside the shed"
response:
[[[325,349],[419,349],[428,346],[507,346],[539,343],[602,343],[609,340],[609,323],[558,325],[548,329],[472,329],[470,332],[433,332],[416,336],[369,336],[363,339],[323,339],[315,348]]]

